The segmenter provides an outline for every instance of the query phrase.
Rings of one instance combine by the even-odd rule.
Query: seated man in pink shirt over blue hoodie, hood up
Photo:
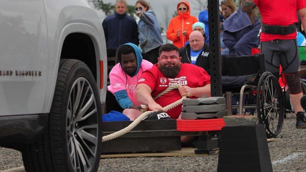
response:
[[[143,60],[141,50],[137,45],[127,43],[117,50],[119,63],[109,73],[110,85],[107,87],[123,109],[140,110],[136,98],[136,85],[143,71],[150,69],[153,64]]]

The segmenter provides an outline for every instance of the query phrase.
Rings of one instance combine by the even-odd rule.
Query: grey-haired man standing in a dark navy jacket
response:
[[[115,14],[103,20],[106,48],[118,48],[128,42],[139,44],[137,23],[134,18],[126,14],[127,9],[125,0],[117,0]]]

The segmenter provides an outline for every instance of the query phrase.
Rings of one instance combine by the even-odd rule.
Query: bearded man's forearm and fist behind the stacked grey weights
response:
[[[195,96],[200,98],[201,95],[206,95],[207,97],[210,97],[210,84],[206,84],[203,87],[198,88],[190,88],[189,86],[182,86],[178,89],[180,91],[181,96]],[[188,93],[190,93],[188,95]]]

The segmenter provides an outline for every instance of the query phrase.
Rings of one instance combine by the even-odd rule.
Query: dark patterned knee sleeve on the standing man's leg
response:
[[[300,71],[296,73],[285,73],[284,75],[289,86],[290,94],[302,93],[302,86],[300,83]]]

